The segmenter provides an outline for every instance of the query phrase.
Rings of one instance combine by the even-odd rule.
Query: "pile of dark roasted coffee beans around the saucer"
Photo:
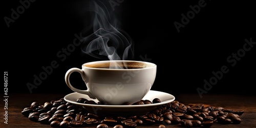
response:
[[[84,98],[77,99],[79,103],[100,104]],[[158,98],[153,101],[141,100],[136,103],[123,105],[151,104],[161,102]],[[99,116],[90,113],[81,106],[65,101],[63,98],[40,104],[32,102],[21,112],[34,122],[49,124],[51,127],[81,127],[95,126],[97,128],[136,127],[139,125],[154,125],[165,128],[167,125],[180,125],[183,127],[210,127],[214,123],[239,124],[240,115],[244,111],[234,111],[222,107],[204,104],[185,105],[177,100],[145,113],[144,115],[130,116]]]

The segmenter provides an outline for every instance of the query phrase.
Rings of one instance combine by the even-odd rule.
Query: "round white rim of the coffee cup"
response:
[[[145,63],[146,65],[150,65],[148,67],[145,68],[138,68],[138,69],[101,69],[101,68],[93,68],[93,67],[86,67],[86,65],[91,65],[94,63],[105,63],[105,62],[142,62]],[[82,64],[83,68],[88,68],[88,69],[98,69],[98,70],[143,70],[143,69],[152,69],[152,68],[156,68],[156,64],[152,63],[152,62],[147,62],[147,61],[139,61],[139,60],[97,60],[97,61],[90,61],[90,62],[86,62]]]

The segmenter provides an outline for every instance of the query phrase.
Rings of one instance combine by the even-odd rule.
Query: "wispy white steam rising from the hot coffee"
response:
[[[99,59],[133,59],[133,41],[118,28],[112,9],[100,1],[91,2],[89,11],[93,15],[93,33],[82,39],[82,52]]]

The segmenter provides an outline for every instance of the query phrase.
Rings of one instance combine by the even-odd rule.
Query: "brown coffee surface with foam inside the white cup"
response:
[[[94,64],[84,64],[85,67],[90,68],[102,68],[102,69],[141,69],[154,67],[143,62],[104,62],[104,63],[94,63]]]

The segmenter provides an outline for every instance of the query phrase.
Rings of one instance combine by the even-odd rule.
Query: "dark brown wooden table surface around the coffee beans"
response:
[[[24,108],[30,106],[33,101],[45,103],[51,100],[63,98],[62,94],[9,94],[8,100],[4,97],[0,103],[1,105],[1,122],[0,127],[51,127],[49,124],[41,124],[33,122],[22,115]],[[245,95],[211,95],[205,94],[199,98],[196,94],[181,94],[175,96],[175,100],[181,103],[203,103],[211,106],[222,106],[225,109],[243,110],[244,113],[240,116],[242,122],[240,124],[219,124],[214,123],[211,127],[239,127],[252,128],[256,127],[256,96]],[[8,103],[6,103],[6,101]],[[8,106],[5,106],[8,105]],[[8,124],[5,122],[5,108],[8,108]],[[136,126],[136,127],[158,127],[159,124]],[[96,127],[96,126],[91,126]],[[166,125],[166,127],[181,127],[180,125]]]

